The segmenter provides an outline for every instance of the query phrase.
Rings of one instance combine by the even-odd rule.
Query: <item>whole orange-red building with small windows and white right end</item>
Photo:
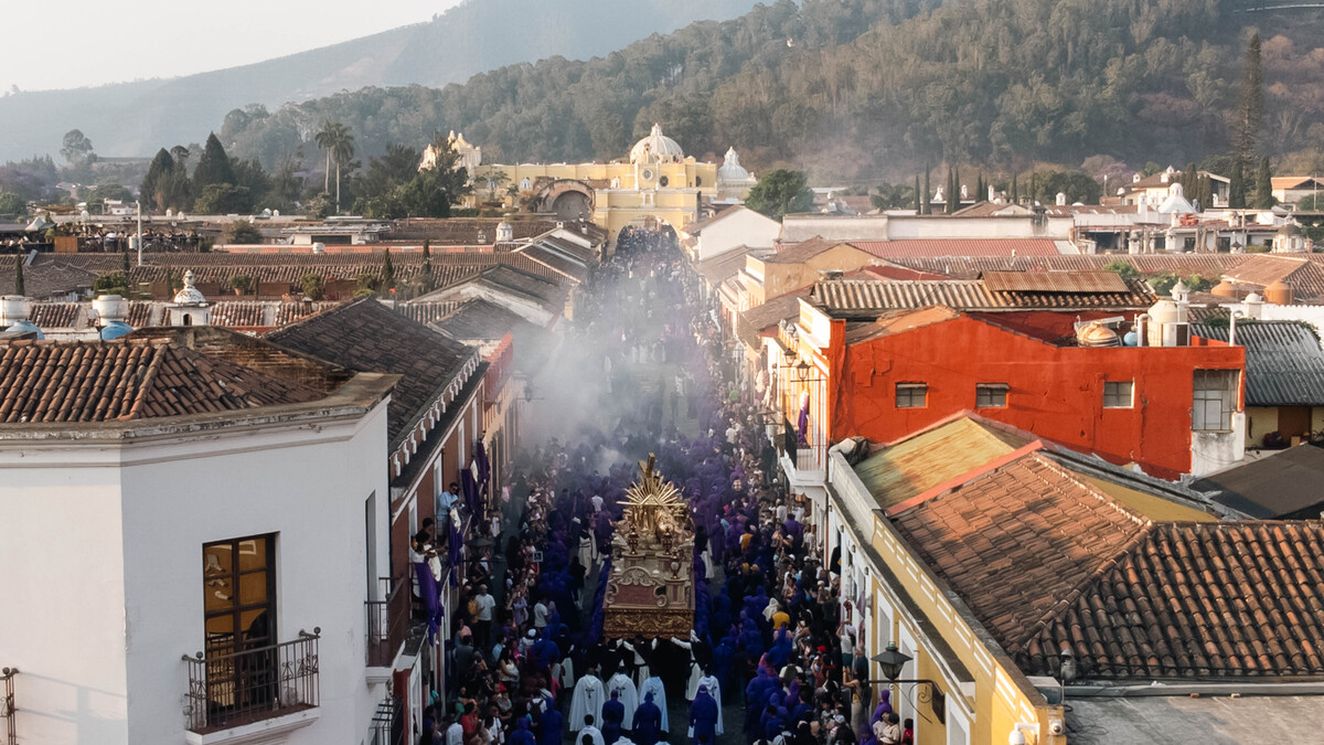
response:
[[[1242,347],[1198,337],[1184,346],[1120,346],[1137,315],[1148,317],[1079,304],[862,312],[821,292],[829,284],[801,301],[790,339],[800,370],[782,378],[793,427],[808,399],[802,448],[851,436],[895,441],[973,411],[1165,479],[1217,471],[1243,455]],[[1082,339],[1078,326],[1092,319],[1104,321],[1094,329],[1099,339]],[[1115,346],[1087,346],[1110,339]]]

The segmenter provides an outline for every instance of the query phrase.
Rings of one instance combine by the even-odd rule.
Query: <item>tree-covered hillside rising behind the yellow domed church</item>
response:
[[[1245,3],[1243,3],[1245,4]],[[1102,155],[1186,163],[1227,150],[1249,23],[1264,34],[1262,151],[1324,150],[1317,15],[1219,0],[790,0],[589,61],[551,58],[465,85],[364,89],[232,113],[222,139],[267,164],[343,122],[365,154],[463,131],[489,160],[622,155],[658,121],[688,152],[733,144],[820,178],[993,171]],[[1321,163],[1324,164],[1324,163]]]

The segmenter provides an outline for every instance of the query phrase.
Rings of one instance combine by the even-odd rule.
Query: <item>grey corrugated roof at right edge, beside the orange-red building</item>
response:
[[[1190,333],[1226,342],[1229,327],[1197,323]],[[1324,406],[1324,350],[1313,329],[1294,321],[1238,323],[1237,345],[1246,347],[1246,406]]]

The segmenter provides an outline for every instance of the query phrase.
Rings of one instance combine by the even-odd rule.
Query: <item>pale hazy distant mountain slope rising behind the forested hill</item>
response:
[[[172,80],[0,98],[0,160],[58,155],[81,129],[101,155],[151,156],[203,142],[225,114],[364,86],[444,86],[553,56],[606,54],[698,19],[724,20],[755,0],[467,0],[430,23],[286,57]],[[185,41],[171,42],[183,45]]]

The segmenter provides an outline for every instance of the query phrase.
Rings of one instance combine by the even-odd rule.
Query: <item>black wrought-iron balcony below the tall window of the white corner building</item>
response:
[[[274,734],[306,726],[320,701],[318,642],[322,630],[299,631],[294,642],[196,656],[184,696],[188,742],[240,742],[256,732]]]

